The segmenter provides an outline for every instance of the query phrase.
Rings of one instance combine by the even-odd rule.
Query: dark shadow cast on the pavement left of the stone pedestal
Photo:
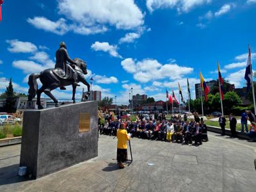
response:
[[[18,175],[19,164],[13,164],[0,168],[0,186],[4,184],[12,184],[16,182],[24,182],[31,180],[25,177],[19,177]]]

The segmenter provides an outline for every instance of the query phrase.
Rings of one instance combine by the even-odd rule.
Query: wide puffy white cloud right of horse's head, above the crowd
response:
[[[127,58],[121,62],[125,71],[133,74],[136,81],[147,83],[157,79],[181,78],[186,74],[193,72],[193,68],[181,67],[175,63],[162,65],[157,60],[145,59],[142,61],[134,61],[132,58]]]

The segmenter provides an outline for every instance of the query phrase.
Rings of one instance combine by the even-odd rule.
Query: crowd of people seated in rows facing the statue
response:
[[[120,129],[120,125],[124,124],[124,129],[131,134],[131,137],[158,140],[166,142],[177,142],[188,145],[189,143],[198,146],[202,145],[202,140],[208,141],[207,126],[204,124],[204,120],[197,118],[188,120],[187,116],[171,116],[169,120],[166,120],[164,114],[150,115],[148,119],[145,119],[142,115],[139,115],[137,120],[131,122],[131,120],[122,120],[117,117],[115,120],[111,115],[106,116],[104,125],[100,126],[100,134],[107,134],[110,136],[116,136],[116,131]]]

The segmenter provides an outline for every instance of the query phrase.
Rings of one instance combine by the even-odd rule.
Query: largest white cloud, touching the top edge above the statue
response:
[[[108,31],[108,26],[116,29],[137,29],[144,24],[144,14],[134,3],[134,0],[60,0],[58,13],[66,19],[57,21],[45,17],[28,18],[29,24],[64,35],[74,31],[81,35],[91,35]]]

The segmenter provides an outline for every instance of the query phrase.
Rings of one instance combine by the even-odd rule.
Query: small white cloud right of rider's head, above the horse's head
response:
[[[95,42],[94,44],[91,45],[91,48],[94,51],[104,51],[108,52],[111,56],[115,58],[122,58],[120,54],[118,54],[117,46],[116,45],[109,45],[108,42]]]

